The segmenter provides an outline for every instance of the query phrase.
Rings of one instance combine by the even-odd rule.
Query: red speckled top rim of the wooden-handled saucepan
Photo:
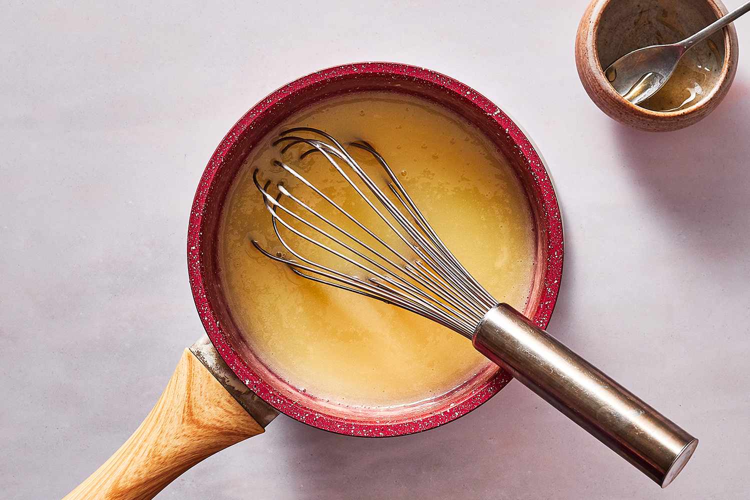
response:
[[[208,160],[208,164],[200,178],[193,199],[187,230],[187,271],[190,279],[190,289],[193,293],[193,301],[195,302],[203,328],[205,328],[206,334],[211,339],[211,343],[213,343],[221,358],[223,358],[236,376],[251,391],[254,391],[261,399],[265,400],[266,403],[269,403],[279,412],[297,421],[333,433],[368,437],[403,436],[438,427],[466,415],[466,413],[477,408],[499,392],[500,389],[510,382],[512,377],[504,370],[498,370],[493,376],[483,382],[483,385],[480,385],[463,401],[456,403],[455,406],[408,421],[366,422],[362,420],[348,420],[347,418],[341,418],[339,415],[330,415],[320,410],[310,409],[304,403],[291,400],[264,382],[259,374],[229,344],[219,323],[218,316],[214,313],[209,301],[206,291],[207,283],[203,274],[202,220],[210,202],[211,185],[222,168],[224,160],[232,153],[233,148],[239,144],[245,131],[254,127],[254,121],[263,115],[264,111],[274,106],[282,98],[289,97],[290,94],[303,91],[313,85],[325,84],[331,79],[356,79],[362,76],[376,76],[384,79],[406,77],[416,82],[440,88],[441,91],[453,94],[452,97],[458,97],[460,100],[463,100],[463,103],[466,103],[467,106],[475,106],[476,109],[484,112],[499,127],[498,130],[502,130],[511,139],[514,147],[517,148],[518,154],[529,168],[538,193],[541,193],[538,205],[541,206],[543,213],[540,214],[539,220],[542,220],[545,225],[547,260],[544,280],[541,283],[541,296],[531,319],[541,328],[547,327],[550,315],[556,304],[560,279],[562,277],[563,237],[562,219],[560,217],[556,193],[543,160],[541,160],[541,157],[529,139],[526,138],[523,131],[517,127],[511,118],[508,118],[508,115],[505,115],[501,109],[488,100],[487,97],[442,73],[408,64],[360,62],[329,67],[308,74],[307,76],[302,76],[278,88],[246,112],[221,140],[214,154],[211,155],[211,159]],[[210,256],[205,256],[205,259],[210,258]]]

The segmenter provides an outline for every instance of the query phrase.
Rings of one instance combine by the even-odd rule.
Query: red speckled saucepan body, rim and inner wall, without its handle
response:
[[[511,377],[490,365],[452,393],[412,406],[352,409],[326,403],[288,385],[258,361],[234,325],[216,271],[221,208],[243,160],[260,139],[304,106],[335,94],[369,90],[417,94],[440,103],[475,124],[508,157],[528,195],[537,235],[535,277],[525,315],[545,328],[562,272],[562,224],[541,158],[517,125],[486,97],[421,67],[391,63],[332,67],[284,85],[257,103],[229,130],[205,167],[190,212],[187,261],[205,331],[248,388],[279,411],[320,429],[351,436],[400,436],[465,415],[496,394]]]

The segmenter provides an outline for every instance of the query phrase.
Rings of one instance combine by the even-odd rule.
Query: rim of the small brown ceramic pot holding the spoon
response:
[[[630,109],[633,112],[637,112],[640,115],[646,115],[651,118],[655,118],[658,120],[661,119],[670,119],[674,118],[676,116],[679,117],[688,117],[690,115],[694,115],[695,113],[703,112],[703,109],[706,106],[712,105],[710,101],[713,100],[715,95],[721,91],[724,92],[724,88],[727,87],[727,85],[731,85],[733,81],[733,71],[735,68],[733,68],[733,60],[736,60],[736,54],[737,47],[735,46],[734,40],[736,40],[736,37],[732,37],[731,30],[733,30],[733,25],[727,25],[724,28],[722,28],[721,32],[724,34],[724,61],[721,64],[721,74],[718,77],[718,81],[715,85],[713,85],[713,88],[711,91],[706,95],[706,97],[703,97],[700,101],[693,104],[692,106],[688,106],[685,109],[678,109],[676,111],[654,111],[653,109],[647,109],[643,108],[641,106],[638,106],[637,104],[631,103],[629,100],[626,100],[625,97],[622,97],[613,87],[610,85],[609,80],[607,80],[607,77],[604,76],[604,67],[601,65],[601,61],[599,60],[599,52],[598,52],[598,31],[599,26],[601,25],[601,15],[604,13],[604,9],[606,9],[609,4],[612,3],[613,0],[595,0],[597,2],[597,5],[595,7],[595,10],[593,10],[593,15],[591,17],[591,23],[593,25],[593,29],[590,31],[591,33],[591,40],[586,40],[586,43],[591,43],[591,54],[592,58],[595,61],[595,64],[592,64],[592,73],[594,74],[598,84],[601,86],[601,88],[604,89],[604,92],[609,96],[611,99],[615,100],[617,103],[619,103],[621,106],[625,106],[625,108]],[[717,0],[702,0],[705,1],[706,4],[711,7],[713,12],[716,14],[716,19],[723,16],[727,13],[727,8],[724,6],[724,4],[721,3],[721,1]],[[732,73],[730,75],[730,73]]]

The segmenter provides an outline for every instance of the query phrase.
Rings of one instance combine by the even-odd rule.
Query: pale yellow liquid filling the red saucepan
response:
[[[507,160],[479,130],[422,98],[378,92],[331,97],[285,125],[371,142],[469,272],[496,298],[523,310],[535,254],[529,203]],[[489,361],[459,334],[397,307],[304,280],[251,246],[249,235],[284,251],[252,181],[258,167],[261,178],[284,178],[290,190],[296,188],[271,165],[279,157],[270,145],[273,138],[263,139],[242,166],[219,229],[224,295],[260,361],[311,397],[362,407],[435,398],[486,368]],[[287,152],[284,159],[366,225],[376,223],[332,166],[317,154],[297,160],[299,151]],[[383,178],[371,156],[351,152],[375,178]],[[298,244],[288,232],[284,237]],[[311,245],[297,248],[324,262],[328,258]]]

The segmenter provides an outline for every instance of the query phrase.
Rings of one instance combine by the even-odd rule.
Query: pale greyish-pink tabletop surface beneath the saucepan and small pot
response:
[[[448,73],[526,128],[565,217],[550,331],[698,436],[697,453],[661,492],[511,382],[416,436],[281,416],[158,498],[747,498],[750,17],[724,103],[652,135],[586,97],[582,0],[2,3],[2,496],[68,493],[202,333],[187,216],[226,130],[298,76],[386,60]]]

